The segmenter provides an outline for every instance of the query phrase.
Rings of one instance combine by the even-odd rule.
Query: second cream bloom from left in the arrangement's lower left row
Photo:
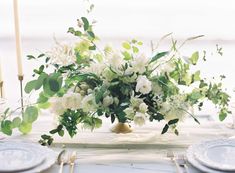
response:
[[[62,105],[63,107],[67,109],[80,109],[81,108],[81,102],[82,102],[82,96],[80,93],[66,93],[62,97]]]

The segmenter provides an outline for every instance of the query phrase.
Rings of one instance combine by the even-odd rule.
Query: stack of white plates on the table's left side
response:
[[[32,173],[51,167],[56,153],[39,144],[19,141],[0,142],[0,172]]]

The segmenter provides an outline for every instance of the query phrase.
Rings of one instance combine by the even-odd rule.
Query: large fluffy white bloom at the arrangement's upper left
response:
[[[52,64],[68,66],[76,62],[74,48],[66,44],[57,44],[56,47],[48,53]]]

